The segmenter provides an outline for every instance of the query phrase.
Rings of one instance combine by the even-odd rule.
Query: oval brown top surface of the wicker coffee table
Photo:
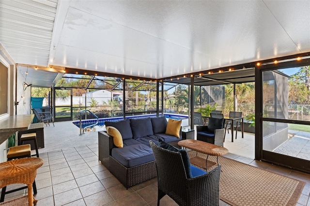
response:
[[[186,147],[188,149],[201,152],[203,154],[212,155],[212,156],[222,156],[228,153],[228,149],[225,147],[220,147],[210,143],[202,142],[195,139],[186,139],[178,142],[178,145],[181,147]]]

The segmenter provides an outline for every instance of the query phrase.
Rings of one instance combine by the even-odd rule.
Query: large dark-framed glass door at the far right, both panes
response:
[[[310,172],[310,66],[260,76],[261,159]]]

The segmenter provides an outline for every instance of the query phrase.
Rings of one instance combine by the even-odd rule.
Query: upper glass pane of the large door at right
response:
[[[263,117],[310,121],[310,66],[263,72]]]

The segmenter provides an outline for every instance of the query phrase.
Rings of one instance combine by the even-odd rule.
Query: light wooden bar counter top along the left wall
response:
[[[28,130],[34,115],[14,115],[0,120],[0,144],[17,131]]]

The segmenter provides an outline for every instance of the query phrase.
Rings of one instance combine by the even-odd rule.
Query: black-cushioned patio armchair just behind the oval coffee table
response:
[[[209,118],[208,126],[197,126],[197,140],[223,147],[225,118]]]

